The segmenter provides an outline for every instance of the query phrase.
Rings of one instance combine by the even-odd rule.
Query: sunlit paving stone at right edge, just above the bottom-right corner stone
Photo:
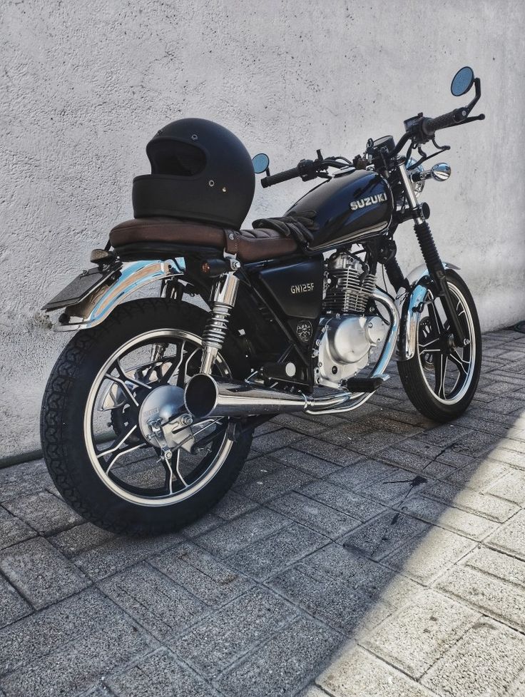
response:
[[[516,629],[525,629],[524,589],[467,566],[454,566],[436,586]]]

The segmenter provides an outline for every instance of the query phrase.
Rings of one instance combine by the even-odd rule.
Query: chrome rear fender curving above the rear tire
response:
[[[117,305],[153,281],[166,280],[183,275],[183,258],[123,262],[113,282],[103,284],[66,310],[53,329],[56,332],[73,332],[90,329],[101,324]]]

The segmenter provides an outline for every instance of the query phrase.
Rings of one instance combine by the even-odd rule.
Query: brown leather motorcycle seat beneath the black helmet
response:
[[[225,249],[241,261],[260,261],[297,250],[295,240],[275,230],[227,230],[208,223],[175,218],[135,218],[116,225],[109,240],[118,252],[128,245],[180,244]]]

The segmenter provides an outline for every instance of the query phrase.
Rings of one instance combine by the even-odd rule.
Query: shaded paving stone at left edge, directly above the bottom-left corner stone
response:
[[[0,676],[63,651],[75,639],[111,634],[122,617],[121,609],[93,588],[24,617],[0,630]]]

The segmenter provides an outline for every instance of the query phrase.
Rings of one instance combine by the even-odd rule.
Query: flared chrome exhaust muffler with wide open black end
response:
[[[302,412],[309,401],[301,393],[266,390],[234,380],[216,380],[205,373],[194,375],[184,392],[186,409],[196,419]]]

